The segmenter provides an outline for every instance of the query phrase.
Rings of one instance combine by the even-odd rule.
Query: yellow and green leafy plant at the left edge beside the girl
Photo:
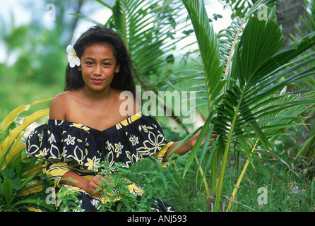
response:
[[[50,100],[50,99],[48,99]],[[25,142],[23,136],[25,129],[47,116],[49,109],[36,111],[24,117],[21,124],[18,123],[20,115],[28,111],[33,105],[47,102],[48,100],[35,101],[31,105],[21,105],[13,109],[0,125],[0,202],[4,210],[23,208],[21,204],[39,204],[49,208],[44,201],[36,201],[32,198],[18,201],[19,196],[26,196],[34,192],[42,191],[42,184],[36,182],[35,176],[42,172],[41,163],[24,158]]]

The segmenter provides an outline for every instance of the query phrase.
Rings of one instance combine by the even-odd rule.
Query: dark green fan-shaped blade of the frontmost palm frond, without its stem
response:
[[[258,23],[261,24],[261,27]],[[278,59],[275,56],[278,56],[279,54],[279,52],[276,53],[276,51],[280,49],[283,42],[280,31],[277,28],[278,26],[276,26],[272,20],[265,23],[256,18],[249,20],[249,24],[246,26],[244,34],[242,35],[242,40],[239,42],[239,47],[235,55],[234,67],[232,68],[232,74],[236,82],[232,88],[225,93],[222,105],[218,108],[218,115],[213,119],[217,124],[215,130],[226,134],[225,136],[222,136],[222,139],[228,137],[227,134],[231,132],[230,124],[232,124],[233,121],[236,126],[235,129],[241,131],[244,131],[242,128],[246,127],[245,124],[250,124],[251,128],[256,133],[256,136],[258,136],[263,143],[264,148],[269,150],[272,146],[268,143],[268,139],[263,135],[261,129],[259,129],[256,121],[258,121],[260,117],[263,117],[263,115],[275,113],[281,109],[290,108],[294,105],[311,104],[314,102],[314,100],[303,100],[301,102],[287,101],[281,105],[276,105],[273,103],[274,98],[270,98],[271,95],[284,88],[285,85],[314,73],[314,68],[295,73],[297,69],[307,65],[310,61],[314,61],[313,53],[309,54],[307,57],[300,57],[283,66],[281,66],[280,62],[275,61],[275,59]],[[251,30],[251,32],[246,32],[247,30]],[[255,32],[253,30],[255,30]],[[271,36],[268,37],[268,35]],[[275,41],[277,40],[275,37],[278,37],[278,42]],[[311,47],[315,43],[314,41],[314,38],[308,40],[308,47]],[[291,50],[295,49],[291,54],[288,54],[286,49],[280,51],[280,53],[287,52],[287,60],[293,59],[294,57],[297,57],[299,53],[304,51],[304,48],[307,48],[304,46],[305,43],[303,43],[304,42],[298,42],[294,44],[295,48],[292,48],[292,46],[291,48],[288,48]],[[268,48],[270,49],[268,50]],[[308,59],[303,60],[304,58]],[[252,59],[256,60],[253,61]],[[264,65],[266,65],[266,62],[269,64],[271,61],[273,61],[273,64],[277,65],[279,68],[278,70],[271,71],[271,73],[266,73],[268,70],[265,70]],[[297,61],[300,62],[297,63]],[[271,66],[271,68],[273,67],[275,66]],[[261,69],[265,71],[266,75],[261,75]],[[287,75],[290,76],[283,81],[278,82],[280,78]],[[260,108],[261,105],[268,105],[271,103],[273,103],[273,105],[263,109]],[[230,136],[230,138],[232,138],[232,136]]]

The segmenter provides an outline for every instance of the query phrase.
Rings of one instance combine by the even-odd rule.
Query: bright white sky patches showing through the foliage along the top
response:
[[[36,5],[32,7],[25,6],[25,2],[34,3],[36,1]],[[114,0],[107,0],[106,1],[109,5],[114,4]],[[38,15],[44,15],[42,20],[43,23],[47,25],[47,28],[54,25],[54,20],[51,20],[50,12],[52,8],[44,3],[44,1],[40,0],[0,0],[0,19],[2,20],[1,23],[11,24],[11,13],[14,16],[14,24],[15,26],[28,24],[31,22],[32,17]],[[97,4],[97,2],[95,3]],[[216,32],[221,30],[222,28],[227,28],[230,25],[230,11],[225,9],[223,10],[223,5],[220,3],[220,0],[205,0],[206,11],[208,16],[211,17],[214,13],[218,13],[222,15],[217,21],[213,21],[213,28]],[[101,6],[101,5],[100,5]],[[89,11],[89,6],[85,6],[83,8],[83,14],[85,15],[84,11]],[[95,6],[94,6],[95,7]],[[105,7],[100,7],[100,10],[96,10],[93,8],[93,13],[90,13],[88,17],[92,18],[93,20],[97,20],[98,22],[105,23],[110,16],[109,13],[104,13]],[[38,13],[36,13],[38,11]],[[56,12],[58,13],[58,12]],[[82,32],[87,30],[90,26],[94,25],[91,22],[85,20],[79,20],[78,26],[74,33],[74,38],[78,37]],[[194,39],[194,37],[192,37]],[[188,40],[189,41],[189,40]],[[180,44],[180,43],[179,43]],[[183,43],[182,43],[183,44]],[[192,46],[191,48],[196,48],[196,46]],[[0,40],[0,53],[3,52],[1,49],[4,49],[4,42]],[[4,62],[6,56],[0,54],[0,62]]]

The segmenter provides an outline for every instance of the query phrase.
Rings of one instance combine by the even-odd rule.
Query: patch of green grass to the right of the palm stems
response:
[[[282,162],[256,160],[255,172],[252,167],[247,169],[237,196],[234,198],[232,212],[314,212],[314,171],[307,174],[291,166],[299,174],[297,177]],[[306,168],[304,168],[306,169]],[[242,169],[239,169],[239,172]],[[305,171],[304,171],[305,172]],[[227,170],[225,180],[225,196],[230,197],[237,173],[234,167]],[[267,203],[259,205],[259,188],[266,188]],[[227,206],[228,201],[225,201]]]

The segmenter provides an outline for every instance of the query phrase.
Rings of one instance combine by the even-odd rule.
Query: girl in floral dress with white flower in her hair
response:
[[[132,109],[120,114],[119,95],[124,90],[135,95],[133,64],[123,41],[109,28],[94,26],[68,47],[66,89],[51,102],[49,121],[28,136],[26,153],[43,160],[43,172],[54,188],[79,191],[81,209],[97,211],[108,200],[100,189],[100,163],[108,156],[109,167],[122,162],[125,167],[145,157],[166,162],[179,142],[167,141],[157,121],[141,114],[134,98]],[[183,155],[196,143],[198,134],[177,148]],[[128,186],[141,196],[136,185]],[[60,203],[57,201],[57,208]],[[165,208],[166,207],[166,208]],[[158,203],[159,210],[172,210]]]

